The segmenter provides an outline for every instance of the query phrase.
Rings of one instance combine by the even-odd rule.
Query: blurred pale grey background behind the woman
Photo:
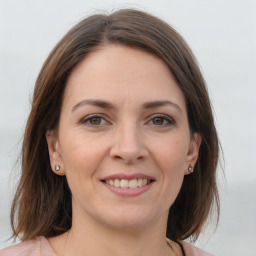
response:
[[[0,248],[33,86],[47,55],[79,20],[118,8],[148,11],[182,34],[209,87],[224,152],[218,229],[197,245],[216,256],[256,256],[256,1],[0,0]],[[212,223],[214,226],[214,223]]]

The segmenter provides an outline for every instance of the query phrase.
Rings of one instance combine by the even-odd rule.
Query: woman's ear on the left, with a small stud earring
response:
[[[61,157],[61,148],[58,141],[58,136],[53,130],[47,130],[45,133],[46,141],[48,144],[49,158],[52,171],[60,176],[65,175],[64,164]],[[56,166],[59,166],[59,170],[56,170]]]

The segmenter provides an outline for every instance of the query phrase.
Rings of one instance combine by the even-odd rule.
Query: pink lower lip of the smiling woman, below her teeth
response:
[[[139,196],[145,192],[147,192],[153,185],[154,182],[151,182],[147,185],[144,185],[142,187],[137,188],[120,188],[108,185],[106,183],[103,183],[111,192],[115,193],[116,195],[123,196],[123,197],[133,197],[133,196]]]

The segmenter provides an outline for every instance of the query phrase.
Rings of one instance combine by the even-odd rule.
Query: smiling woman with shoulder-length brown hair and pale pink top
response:
[[[36,81],[0,255],[209,255],[219,143],[190,49],[136,10],[93,15]]]

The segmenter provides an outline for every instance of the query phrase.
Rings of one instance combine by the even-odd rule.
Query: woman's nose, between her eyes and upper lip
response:
[[[135,125],[124,125],[117,128],[110,156],[113,159],[122,160],[126,164],[133,164],[145,159],[148,156],[148,150],[140,129]]]

